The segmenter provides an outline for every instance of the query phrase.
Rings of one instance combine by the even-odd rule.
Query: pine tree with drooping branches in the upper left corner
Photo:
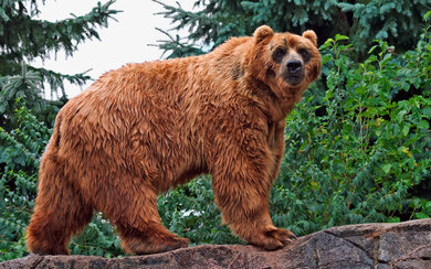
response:
[[[45,1],[42,1],[44,3]],[[40,10],[36,0],[0,1],[0,126],[11,129],[14,100],[23,97],[29,108],[43,112],[48,104],[41,96],[45,85],[63,98],[64,82],[84,85],[90,76],[85,72],[66,75],[45,68],[36,68],[28,63],[49,58],[51,53],[64,51],[72,56],[81,43],[88,39],[99,39],[96,28],[107,26],[117,10],[112,10],[114,0],[93,8],[85,15],[50,22],[38,19]],[[25,63],[27,62],[27,63]]]

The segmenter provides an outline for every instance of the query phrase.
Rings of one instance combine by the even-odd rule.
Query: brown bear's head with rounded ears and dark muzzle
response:
[[[266,25],[253,34],[251,75],[263,82],[280,98],[301,94],[320,74],[320,54],[314,31],[303,35],[274,33]],[[250,54],[249,54],[250,55]]]

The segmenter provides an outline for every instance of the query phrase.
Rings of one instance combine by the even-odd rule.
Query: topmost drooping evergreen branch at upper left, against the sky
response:
[[[33,20],[25,12],[9,9],[7,14],[10,21],[3,30],[4,37],[0,39],[1,54],[7,54],[10,61],[15,62],[24,56],[30,61],[35,57],[46,58],[50,52],[57,53],[60,50],[65,50],[70,56],[85,40],[99,40],[95,28],[106,28],[108,19],[115,20],[113,15],[122,12],[109,9],[114,2],[98,3],[85,15],[57,22]]]

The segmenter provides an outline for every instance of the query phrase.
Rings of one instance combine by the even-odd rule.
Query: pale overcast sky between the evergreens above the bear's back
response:
[[[107,0],[99,0],[106,3]],[[174,0],[162,0],[165,3],[176,4]],[[192,0],[180,0],[181,7],[191,10]],[[71,18],[70,13],[83,15],[96,7],[97,0],[46,0],[45,6],[40,3],[41,15],[39,19],[56,21]],[[98,29],[101,41],[92,40],[78,46],[73,57],[65,57],[64,52],[52,56],[43,64],[36,62],[35,66],[44,66],[63,74],[76,74],[87,69],[93,78],[99,77],[109,69],[116,69],[126,63],[140,63],[159,60],[162,51],[149,46],[157,40],[167,37],[155,28],[170,29],[170,20],[155,13],[162,11],[162,7],[150,0],[117,0],[112,9],[123,10],[109,20],[107,29]],[[85,87],[83,88],[85,89]],[[49,90],[46,90],[49,92]],[[66,85],[69,98],[81,92],[76,85]],[[46,93],[49,96],[49,93]]]

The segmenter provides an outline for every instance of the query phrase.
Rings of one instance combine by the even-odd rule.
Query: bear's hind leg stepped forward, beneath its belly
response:
[[[120,189],[108,191],[114,203],[106,203],[102,212],[116,225],[122,247],[128,254],[157,254],[183,248],[187,238],[170,233],[157,211],[157,194],[143,179],[123,175]],[[118,184],[118,185],[119,185]]]

